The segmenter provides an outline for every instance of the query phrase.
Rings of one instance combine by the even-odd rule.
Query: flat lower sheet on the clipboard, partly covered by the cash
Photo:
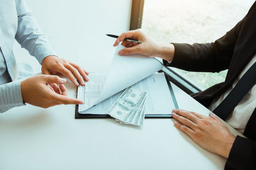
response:
[[[164,73],[155,73],[132,85],[147,92],[145,114],[170,114],[175,106]],[[101,103],[89,108],[82,114],[106,114],[108,108],[116,101],[124,90]]]

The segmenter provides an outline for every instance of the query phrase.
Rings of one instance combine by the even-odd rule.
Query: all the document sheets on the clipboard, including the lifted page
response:
[[[119,50],[123,48],[125,47],[122,45],[117,46],[108,73],[91,73],[89,75],[90,81],[86,82],[84,87],[79,86],[78,98],[83,100],[84,104],[79,104],[78,112],[106,114],[108,107],[116,101],[120,94],[127,87],[134,85],[134,87],[147,91],[148,96],[152,94],[152,97],[147,97],[146,114],[170,113],[174,106],[170,106],[172,97],[166,95],[166,93],[170,94],[170,91],[164,74],[154,74],[162,69],[163,65],[161,62],[157,59],[138,54],[129,56],[118,55]],[[150,76],[152,74],[154,75]],[[138,83],[139,81],[140,83]],[[165,88],[162,87],[163,83],[166,85]],[[157,87],[157,85],[160,85],[160,87]],[[162,90],[163,93],[160,93]],[[159,94],[161,94],[161,97]],[[172,109],[164,110],[167,106],[162,102],[168,103],[168,106]],[[157,107],[158,105],[164,107]]]

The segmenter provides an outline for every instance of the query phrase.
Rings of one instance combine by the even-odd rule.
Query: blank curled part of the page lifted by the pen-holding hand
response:
[[[90,100],[95,101],[95,103],[79,104],[79,113],[84,110],[88,110],[88,108],[91,108],[95,104],[108,99],[108,97],[113,96],[130,85],[133,85],[151,74],[156,73],[156,71],[159,71],[163,67],[158,60],[145,57],[143,55],[118,55],[118,52],[124,48],[125,47],[122,45],[117,46],[111,68],[108,72],[103,88],[100,89],[96,96],[91,96],[94,98]],[[88,94],[85,95],[87,96]]]

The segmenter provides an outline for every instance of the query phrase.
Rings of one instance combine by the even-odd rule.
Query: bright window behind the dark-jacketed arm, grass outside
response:
[[[254,0],[146,0],[141,28],[158,41],[209,43],[232,29]],[[226,71],[195,73],[175,69],[202,89],[225,80]]]

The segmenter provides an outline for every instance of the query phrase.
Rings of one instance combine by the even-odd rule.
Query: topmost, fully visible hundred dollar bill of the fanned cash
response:
[[[108,109],[107,113],[111,117],[129,123],[127,121],[128,118],[137,112],[146,94],[147,92],[143,92],[142,90],[128,87]]]

